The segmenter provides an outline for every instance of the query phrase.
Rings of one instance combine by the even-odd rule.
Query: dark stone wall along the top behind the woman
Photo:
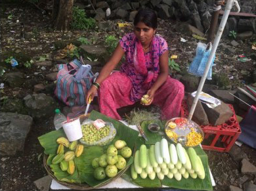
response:
[[[238,0],[241,12],[255,13],[256,0]],[[182,22],[188,22],[198,28],[202,32],[206,32],[211,21],[211,13],[213,12],[214,0],[108,0],[108,1],[92,1],[93,9],[90,1],[77,1],[75,5],[86,10],[89,16],[96,20],[114,20],[121,19],[133,22],[135,14],[140,8],[148,7],[154,9],[158,17],[163,20],[175,19]],[[111,14],[106,16],[106,10],[110,9]],[[224,7],[223,7],[224,10]],[[232,11],[236,11],[235,8]],[[222,16],[219,17],[219,22]],[[255,29],[256,18],[229,16],[224,32],[234,30],[236,32],[252,31]]]

